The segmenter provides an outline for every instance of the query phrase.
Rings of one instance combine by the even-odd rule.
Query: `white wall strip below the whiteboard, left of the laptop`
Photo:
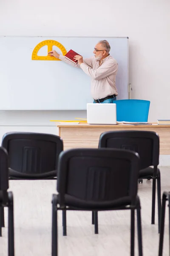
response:
[[[86,111],[0,111],[0,144],[3,134],[9,131],[58,135],[56,122],[50,120],[73,120],[74,117],[86,118]]]

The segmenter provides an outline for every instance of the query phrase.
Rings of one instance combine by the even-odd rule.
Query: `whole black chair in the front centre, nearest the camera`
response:
[[[134,255],[137,210],[139,256],[142,256],[141,207],[137,195],[139,155],[109,148],[78,148],[59,155],[57,192],[52,198],[52,256],[57,256],[57,211],[131,210],[130,255]],[[122,177],[124,177],[122,179]],[[65,215],[66,216],[66,215]],[[95,233],[98,233],[94,214]],[[63,218],[66,235],[66,218]]]

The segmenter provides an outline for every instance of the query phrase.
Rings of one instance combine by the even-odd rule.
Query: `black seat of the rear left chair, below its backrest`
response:
[[[18,180],[18,179],[30,179],[30,180],[37,180],[37,179],[51,179],[56,177],[57,171],[51,171],[51,172],[45,172],[45,173],[23,173],[23,172],[17,172],[14,169],[9,168],[9,177],[12,180]]]

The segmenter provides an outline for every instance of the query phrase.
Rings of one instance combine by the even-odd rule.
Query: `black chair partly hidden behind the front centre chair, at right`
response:
[[[99,148],[122,148],[140,156],[139,179],[152,179],[152,219],[155,224],[156,180],[158,195],[158,224],[160,231],[161,175],[159,165],[159,136],[153,131],[108,131],[100,135]],[[150,167],[153,166],[153,167]],[[93,219],[93,216],[92,216]]]

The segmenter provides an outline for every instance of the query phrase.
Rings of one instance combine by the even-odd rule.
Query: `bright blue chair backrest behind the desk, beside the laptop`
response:
[[[147,122],[150,101],[142,99],[115,100],[117,121]]]

